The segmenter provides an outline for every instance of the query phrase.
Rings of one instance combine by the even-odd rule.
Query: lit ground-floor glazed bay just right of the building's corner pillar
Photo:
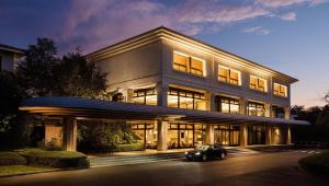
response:
[[[202,124],[169,124],[168,149],[194,148],[203,144],[205,126]]]

